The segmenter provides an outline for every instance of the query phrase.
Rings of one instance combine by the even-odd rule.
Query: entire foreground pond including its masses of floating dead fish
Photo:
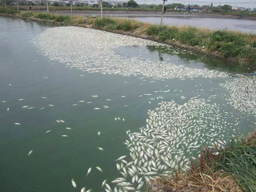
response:
[[[2,191],[139,191],[201,145],[252,131],[252,69],[94,29],[0,23]]]

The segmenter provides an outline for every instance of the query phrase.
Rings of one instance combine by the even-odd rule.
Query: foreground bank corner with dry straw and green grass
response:
[[[255,192],[256,131],[246,139],[233,139],[224,149],[206,147],[189,171],[177,169],[148,184],[149,191]]]

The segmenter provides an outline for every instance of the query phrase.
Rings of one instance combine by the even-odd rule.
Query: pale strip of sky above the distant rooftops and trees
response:
[[[153,4],[154,0],[135,0],[138,4],[144,4],[146,1],[146,4]],[[168,0],[167,4],[172,4],[174,3],[182,3],[185,5],[190,4],[198,4],[198,5],[206,5],[206,4],[211,4],[213,3],[213,6],[218,6],[224,5],[224,4],[229,4],[232,6],[237,6],[237,7],[245,7],[245,8],[256,8],[256,0]],[[155,0],[155,4],[163,4],[162,0]],[[165,2],[166,4],[166,2]]]

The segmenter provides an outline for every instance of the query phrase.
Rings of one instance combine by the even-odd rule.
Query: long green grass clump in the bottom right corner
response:
[[[256,191],[256,147],[233,142],[222,151],[220,168],[233,174],[245,192]]]

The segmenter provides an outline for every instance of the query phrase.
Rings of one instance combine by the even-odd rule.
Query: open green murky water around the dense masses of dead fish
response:
[[[226,132],[218,134],[216,139],[227,142],[232,135],[251,131],[248,125],[254,124],[255,111],[253,109],[239,111],[230,106],[225,98],[229,97],[231,92],[223,87],[224,85],[221,86],[224,81],[235,81],[238,78],[249,78],[252,81],[250,85],[255,86],[255,80],[249,74],[252,72],[251,69],[230,65],[227,61],[204,55],[190,52],[182,54],[184,51],[177,48],[171,48],[170,51],[163,46],[120,44],[112,49],[120,57],[166,62],[167,65],[171,62],[178,67],[191,68],[191,71],[207,69],[207,73],[214,70],[226,73],[228,76],[207,78],[205,74],[205,77],[156,79],[141,74],[123,76],[90,73],[76,67],[66,67],[66,62],[52,59],[54,56],[52,54],[45,56],[46,51],[32,43],[39,34],[54,26],[5,17],[0,18],[0,23],[0,186],[2,191],[80,191],[83,187],[86,187],[86,190],[91,188],[93,191],[103,191],[101,183],[105,179],[114,191],[115,185],[110,181],[123,177],[116,168],[118,162],[115,160],[126,155],[125,160],[128,163],[132,161],[130,151],[124,144],[130,137],[126,132],[128,130],[130,133],[140,132],[140,127],[146,127],[148,110],[156,110],[161,101],[174,100],[177,105],[182,106],[193,97],[207,100],[212,95],[216,95],[206,102],[213,106],[214,103],[219,105],[216,111],[221,116],[220,124],[223,123],[221,119],[225,119],[223,121],[226,121],[227,126],[225,125]],[[76,35],[70,36],[74,39],[78,38]],[[161,70],[161,65],[159,68]],[[242,74],[243,77],[237,74]],[[164,92],[169,89],[169,92]],[[251,99],[252,103],[254,102],[255,98],[251,95],[246,97],[249,97],[246,98],[247,100]],[[186,111],[186,108],[183,110]],[[118,117],[120,120],[115,120]],[[197,117],[199,118],[200,115]],[[56,120],[65,122],[56,123]],[[195,124],[197,123],[195,121]],[[235,123],[237,125],[234,125]],[[71,129],[66,129],[67,127]],[[212,129],[210,120],[207,121],[205,129],[200,131],[206,133],[209,129]],[[51,132],[45,133],[49,130]],[[203,137],[206,139],[198,144],[210,145],[208,136],[203,135]],[[159,140],[155,141],[154,146],[158,145]],[[185,145],[189,140],[184,142]],[[98,147],[103,148],[104,151],[100,151]],[[33,151],[28,156],[31,150]],[[176,152],[173,150],[174,156],[177,155]],[[193,156],[196,157],[197,154],[197,150],[192,151]],[[191,153],[189,154],[188,151],[183,154],[186,158],[189,155]],[[178,156],[175,158],[179,158]],[[146,161],[146,157],[143,159]],[[125,167],[125,162],[120,164],[124,164]],[[99,166],[103,172],[97,170],[96,166]],[[92,172],[86,176],[89,167],[92,167]],[[169,169],[170,167],[162,171],[159,169],[159,172]],[[143,174],[136,173],[136,175]],[[76,188],[71,185],[72,178],[76,181]],[[128,174],[126,182],[131,180],[132,176]],[[136,188],[138,186],[136,182],[132,185]]]

